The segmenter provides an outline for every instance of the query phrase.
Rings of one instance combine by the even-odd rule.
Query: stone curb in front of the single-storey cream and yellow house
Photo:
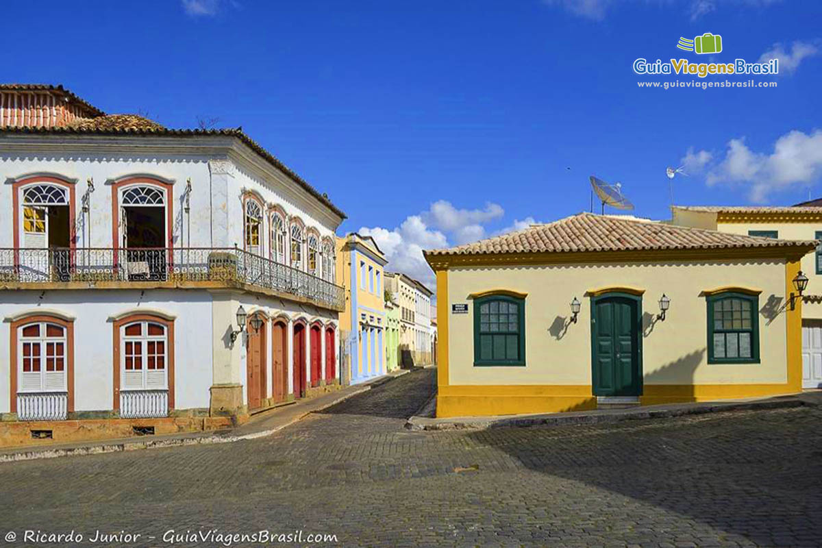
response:
[[[516,417],[464,417],[459,419],[436,419],[428,417],[410,417],[405,428],[415,431],[439,430],[487,430],[490,428],[523,427],[523,426],[564,426],[607,424],[641,419],[682,417],[685,415],[702,415],[704,413],[726,411],[748,411],[753,409],[798,408],[816,406],[819,403],[801,397],[767,399],[734,403],[695,403],[678,408],[620,409],[612,411],[565,412],[543,415]]]

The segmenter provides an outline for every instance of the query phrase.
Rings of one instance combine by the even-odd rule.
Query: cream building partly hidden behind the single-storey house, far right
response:
[[[672,223],[783,240],[822,240],[822,207],[681,206]],[[809,292],[802,299],[802,386],[822,387],[822,247],[801,260]]]

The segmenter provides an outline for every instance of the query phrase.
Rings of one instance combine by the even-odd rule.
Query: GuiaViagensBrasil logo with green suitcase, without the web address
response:
[[[723,39],[721,35],[709,32],[695,36],[694,39],[680,37],[677,48],[697,55],[722,53]],[[747,62],[745,59],[736,58],[733,62],[690,62],[684,58],[671,58],[668,62],[662,59],[649,62],[646,58],[638,58],[634,62],[634,72],[637,74],[693,75],[700,78],[733,74],[770,75],[779,73],[779,60]]]

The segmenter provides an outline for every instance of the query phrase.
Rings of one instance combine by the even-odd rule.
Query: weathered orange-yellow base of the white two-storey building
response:
[[[0,422],[0,447],[43,446],[81,441],[137,437],[134,426],[154,426],[155,435],[219,430],[248,420],[238,417],[166,417],[145,419],[85,419],[77,421]],[[32,431],[52,431],[51,438],[34,439]]]

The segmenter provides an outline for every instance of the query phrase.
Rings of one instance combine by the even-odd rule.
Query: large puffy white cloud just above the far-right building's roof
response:
[[[822,130],[810,134],[789,131],[774,143],[770,154],[750,150],[744,138],[732,139],[706,182],[749,186],[748,198],[764,203],[773,192],[808,186],[822,176]]]

